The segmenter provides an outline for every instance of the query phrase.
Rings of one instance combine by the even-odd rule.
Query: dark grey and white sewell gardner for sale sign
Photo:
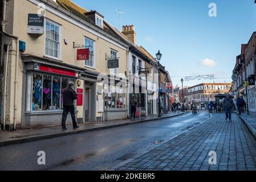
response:
[[[27,20],[28,34],[43,34],[44,31],[44,16],[38,14],[29,14]]]

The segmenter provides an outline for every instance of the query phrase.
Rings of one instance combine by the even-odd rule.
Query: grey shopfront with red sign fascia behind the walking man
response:
[[[78,91],[79,72],[83,69],[26,56],[23,57],[23,63],[25,63],[25,72],[22,103],[25,107],[22,111],[24,113],[22,126],[25,128],[59,126],[62,119],[63,92],[70,83],[73,83],[74,89]],[[76,102],[81,101],[74,103],[76,118],[83,122],[78,116],[83,110],[78,109]],[[71,123],[72,119],[68,115],[67,124]]]

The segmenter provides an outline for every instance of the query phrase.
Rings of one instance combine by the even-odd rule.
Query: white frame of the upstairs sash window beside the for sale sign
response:
[[[58,50],[58,57],[46,55],[46,39],[48,39],[48,38],[46,38],[46,22],[49,22],[49,23],[54,24],[55,26],[59,27],[59,47],[58,47],[59,50]],[[55,60],[59,60],[59,61],[62,59],[62,44],[61,44],[61,41],[60,41],[60,40],[62,40],[62,31],[61,30],[62,30],[62,27],[61,27],[61,25],[59,23],[56,23],[56,22],[54,22],[54,21],[52,21],[50,19],[45,19],[44,20],[44,32],[45,32],[44,33],[44,52],[43,52],[44,57],[48,57],[50,59],[55,59]],[[49,40],[52,40],[52,39],[49,39]]]

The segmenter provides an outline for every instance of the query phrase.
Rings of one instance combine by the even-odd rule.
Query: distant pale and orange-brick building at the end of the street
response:
[[[200,105],[202,110],[207,110],[209,102],[216,102],[215,96],[219,93],[229,93],[231,84],[214,83],[214,84],[199,84],[188,88],[188,103],[194,102]]]

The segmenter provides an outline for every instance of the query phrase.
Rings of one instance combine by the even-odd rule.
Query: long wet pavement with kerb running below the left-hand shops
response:
[[[46,127],[40,129],[25,129],[17,131],[0,131],[0,146],[6,146],[9,144],[32,142],[35,140],[50,139],[55,137],[62,137],[65,135],[85,133],[88,131],[109,129],[112,127],[119,127],[125,125],[133,125],[141,122],[153,121],[156,119],[172,118],[184,113],[169,113],[162,115],[158,118],[157,115],[151,115],[145,118],[123,119],[108,122],[90,122],[79,124],[80,128],[73,130],[72,126],[67,126],[67,131],[62,131],[62,127]]]

